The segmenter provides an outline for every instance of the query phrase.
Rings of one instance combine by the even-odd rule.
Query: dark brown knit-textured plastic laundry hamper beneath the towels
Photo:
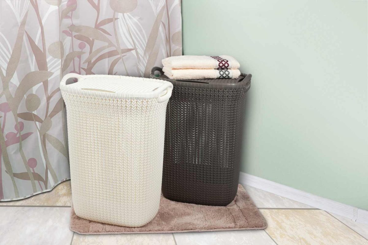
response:
[[[172,80],[161,68],[152,68],[151,78],[174,85],[166,109],[164,197],[216,206],[233,201],[251,77],[242,73],[238,79]]]

